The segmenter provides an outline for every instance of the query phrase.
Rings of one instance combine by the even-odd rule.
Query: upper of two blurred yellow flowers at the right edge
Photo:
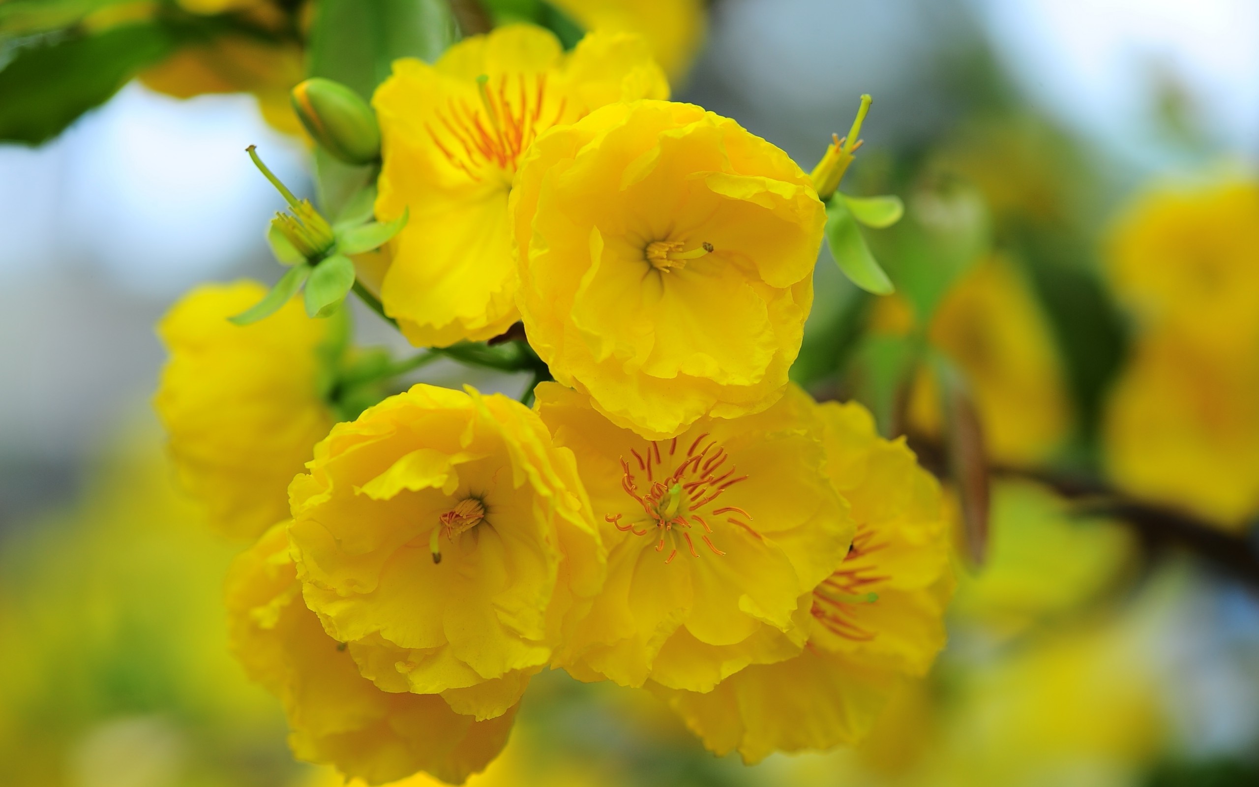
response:
[[[1259,339],[1259,183],[1153,190],[1110,241],[1119,297],[1146,324],[1202,344]]]

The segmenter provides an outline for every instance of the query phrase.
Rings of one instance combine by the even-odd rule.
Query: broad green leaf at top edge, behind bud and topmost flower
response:
[[[436,60],[454,40],[446,0],[320,0],[310,34],[310,74],[371,99],[398,58]]]

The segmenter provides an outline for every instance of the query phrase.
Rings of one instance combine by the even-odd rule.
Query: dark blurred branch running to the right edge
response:
[[[948,456],[944,446],[919,434],[906,437],[922,465],[947,480]],[[1042,484],[1063,497],[1078,502],[1075,512],[1122,521],[1141,538],[1153,555],[1173,549],[1188,552],[1221,572],[1259,589],[1259,553],[1246,534],[1228,533],[1205,519],[1167,505],[1138,500],[1100,478],[1054,470],[993,463],[993,478],[1022,478]]]

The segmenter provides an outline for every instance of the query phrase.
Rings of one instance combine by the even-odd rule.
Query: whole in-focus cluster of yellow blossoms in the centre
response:
[[[943,646],[938,484],[861,405],[788,382],[831,195],[669,96],[623,33],[564,52],[507,25],[400,59],[371,101],[379,224],[296,200],[273,224],[307,254],[312,316],[349,257],[341,296],[379,298],[417,346],[522,330],[550,378],[533,407],[373,395],[384,361],[335,306],[230,324],[252,282],[164,320],[171,456],[257,539],[228,582],[233,647],[297,757],[462,782],[550,667],[648,689],[754,762],[855,742]],[[822,175],[833,191],[842,169]]]

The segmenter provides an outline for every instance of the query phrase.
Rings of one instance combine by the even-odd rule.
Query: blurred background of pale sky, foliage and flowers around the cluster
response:
[[[854,750],[744,768],[646,693],[554,674],[481,783],[1259,783],[1259,4],[716,0],[695,47],[676,97],[805,170],[874,94],[845,189],[905,200],[867,239],[909,295],[823,253],[793,374],[908,434],[966,523],[906,337],[949,358],[988,534],[959,525],[949,646]],[[167,86],[0,145],[0,783],[335,784],[225,651],[235,546],[174,489],[149,404],[176,297],[278,277],[282,200],[243,149],[310,194],[307,147],[262,89]]]

